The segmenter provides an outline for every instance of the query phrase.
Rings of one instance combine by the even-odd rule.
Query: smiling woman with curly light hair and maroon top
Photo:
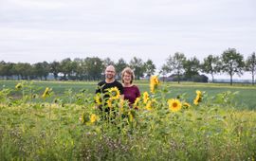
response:
[[[135,74],[130,67],[126,67],[121,72],[124,99],[129,100],[129,106],[133,107],[136,98],[140,97],[139,89],[133,84]]]

